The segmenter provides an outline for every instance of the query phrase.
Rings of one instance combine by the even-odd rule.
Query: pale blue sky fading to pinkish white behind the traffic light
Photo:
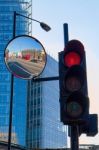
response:
[[[78,39],[83,43],[86,51],[90,113],[99,115],[99,0],[32,2],[32,17],[52,28],[45,32],[36,22],[32,26],[32,35],[41,41],[48,54],[58,60],[58,52],[64,49],[64,23],[68,23],[69,40]],[[95,137],[82,135],[80,144],[82,143],[99,145],[99,134]]]

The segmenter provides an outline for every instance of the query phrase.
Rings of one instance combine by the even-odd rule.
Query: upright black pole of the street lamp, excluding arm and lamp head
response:
[[[15,37],[15,31],[16,31],[16,12],[14,12],[13,16],[13,38]],[[13,74],[11,74],[8,150],[11,149],[11,137],[12,137],[11,133],[12,133],[12,115],[13,115],[13,84],[14,84],[14,76]]]

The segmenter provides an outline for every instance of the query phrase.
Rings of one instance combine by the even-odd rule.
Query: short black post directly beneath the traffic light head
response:
[[[79,131],[78,126],[71,126],[71,150],[79,150]]]

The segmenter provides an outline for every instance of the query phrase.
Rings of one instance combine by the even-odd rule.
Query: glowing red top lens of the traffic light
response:
[[[71,67],[73,65],[79,65],[81,63],[81,57],[76,52],[69,52],[64,57],[64,64],[67,67]]]

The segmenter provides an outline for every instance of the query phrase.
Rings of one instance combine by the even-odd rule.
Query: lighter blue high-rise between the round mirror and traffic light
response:
[[[42,77],[58,76],[58,63],[51,56]],[[66,147],[66,127],[60,122],[58,81],[29,81],[27,99],[27,147]]]

